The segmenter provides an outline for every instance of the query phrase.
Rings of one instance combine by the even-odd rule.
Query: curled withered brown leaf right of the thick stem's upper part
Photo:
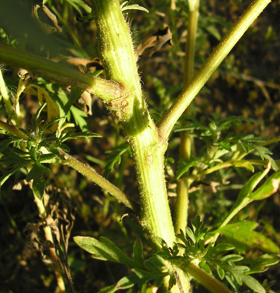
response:
[[[166,26],[166,28],[164,28],[163,30],[159,29],[156,33],[152,34],[152,36],[150,38],[141,42],[138,45],[137,50],[135,52],[135,57],[138,59],[138,57],[142,55],[144,50],[152,47],[152,49],[150,50],[150,54],[149,54],[149,56],[151,57],[152,54],[154,54],[154,52],[159,51],[160,48],[165,43],[167,43],[171,46],[172,45],[171,39],[172,39],[172,33],[169,30],[168,26]]]

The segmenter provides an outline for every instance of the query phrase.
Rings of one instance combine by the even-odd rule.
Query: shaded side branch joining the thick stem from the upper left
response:
[[[124,87],[114,81],[101,79],[82,73],[65,64],[53,62],[35,54],[0,44],[0,61],[9,65],[24,68],[53,79],[62,84],[72,85],[99,96],[105,102],[119,98],[124,94]]]

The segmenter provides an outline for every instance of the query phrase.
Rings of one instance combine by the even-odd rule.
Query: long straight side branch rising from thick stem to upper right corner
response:
[[[195,74],[189,84],[183,89],[182,93],[175,100],[174,104],[164,114],[158,122],[157,127],[162,137],[168,138],[176,121],[190,105],[202,86],[210,78],[213,72],[218,68],[230,50],[242,37],[251,23],[259,16],[263,9],[271,0],[255,0],[244,11],[241,17],[236,21],[231,30],[224,36],[219,45],[208,57],[199,71]]]

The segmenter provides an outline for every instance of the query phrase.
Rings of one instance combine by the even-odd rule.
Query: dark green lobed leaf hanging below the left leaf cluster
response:
[[[41,165],[41,163],[39,162],[36,162],[26,176],[27,182],[29,182],[30,180],[33,180],[32,190],[34,191],[35,195],[39,198],[39,200],[42,200],[44,196],[44,190],[45,190],[44,175],[50,175],[50,174],[51,174],[51,170],[49,168]]]

